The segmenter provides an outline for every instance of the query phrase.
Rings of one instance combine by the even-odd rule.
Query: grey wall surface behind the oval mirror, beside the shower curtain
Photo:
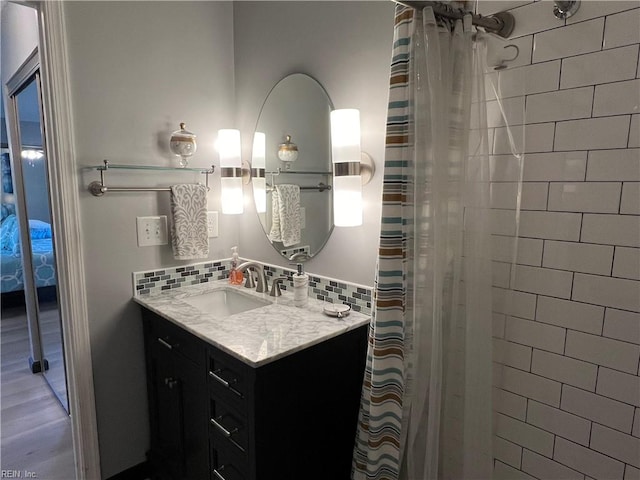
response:
[[[364,225],[335,228],[305,268],[364,285],[373,285],[380,233],[393,12],[392,2],[375,1],[234,5],[237,127],[245,158],[251,156],[253,131],[267,94],[288,74],[314,77],[335,108],[360,109],[362,149],[378,168],[363,190]],[[251,202],[245,207],[241,254],[291,268],[266,239]]]

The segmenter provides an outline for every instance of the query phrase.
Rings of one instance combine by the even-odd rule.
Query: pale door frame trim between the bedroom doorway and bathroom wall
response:
[[[79,172],[67,58],[64,2],[17,1],[36,9],[43,126],[47,135],[51,220],[56,232],[58,292],[71,411],[76,478],[100,479],[89,314],[85,288]]]

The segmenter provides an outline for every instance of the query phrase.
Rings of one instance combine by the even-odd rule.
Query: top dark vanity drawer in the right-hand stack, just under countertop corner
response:
[[[232,406],[244,411],[249,393],[246,366],[219,350],[210,349],[208,367],[210,390]]]

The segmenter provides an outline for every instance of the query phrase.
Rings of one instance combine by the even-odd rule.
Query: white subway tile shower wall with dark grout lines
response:
[[[566,22],[552,6],[479,6],[516,18],[502,90],[524,109],[527,145],[516,294],[495,315],[495,478],[637,480],[640,2],[583,1]],[[495,234],[511,161],[492,157]]]

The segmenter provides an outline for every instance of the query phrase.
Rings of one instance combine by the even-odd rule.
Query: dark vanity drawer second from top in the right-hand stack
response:
[[[246,457],[249,442],[246,418],[217,398],[210,399],[209,431],[215,445],[223,445]]]

